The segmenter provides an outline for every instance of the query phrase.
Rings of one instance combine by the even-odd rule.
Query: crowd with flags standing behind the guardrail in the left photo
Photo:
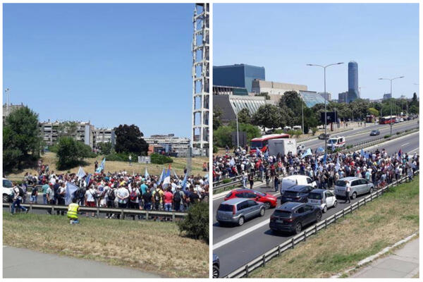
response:
[[[67,183],[78,188],[71,196],[66,195]],[[56,174],[54,171],[44,170],[39,171],[38,175],[25,174],[25,190],[28,185],[42,185],[44,204],[65,205],[66,197],[70,197],[70,200],[75,198],[80,206],[87,207],[184,212],[192,204],[209,199],[207,176],[184,177],[177,176],[176,173],[164,180],[161,176],[149,176],[148,173],[130,174],[126,171],[94,173],[80,177],[77,173]],[[25,201],[23,195],[15,197],[21,197],[21,202]],[[38,190],[34,186],[31,202],[37,202],[37,197]],[[63,214],[58,211],[57,214],[59,213]],[[120,214],[106,214],[107,218],[119,216]]]

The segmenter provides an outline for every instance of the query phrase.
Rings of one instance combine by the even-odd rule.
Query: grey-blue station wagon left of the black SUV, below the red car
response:
[[[264,204],[250,199],[232,198],[219,205],[216,220],[222,223],[235,223],[242,226],[248,219],[264,216]]]

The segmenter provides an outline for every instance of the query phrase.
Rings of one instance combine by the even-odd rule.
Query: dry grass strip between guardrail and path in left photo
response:
[[[72,235],[70,235],[72,234]],[[3,244],[128,266],[165,277],[208,277],[209,245],[168,222],[3,214]]]

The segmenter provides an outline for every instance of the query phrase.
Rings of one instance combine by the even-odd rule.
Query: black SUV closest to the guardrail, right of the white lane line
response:
[[[309,223],[320,221],[321,209],[311,204],[287,202],[277,207],[270,216],[271,231],[300,233]]]

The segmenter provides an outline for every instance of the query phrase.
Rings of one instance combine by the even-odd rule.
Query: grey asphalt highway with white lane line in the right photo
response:
[[[406,128],[407,127],[396,128],[396,130],[405,130]],[[357,135],[357,137],[353,136],[351,138],[358,138],[362,140],[365,136],[367,135]],[[381,136],[384,136],[382,131]],[[349,138],[347,138],[347,142],[348,140]],[[376,147],[379,149],[386,149],[389,154],[398,152],[398,149],[401,149],[403,152],[414,153],[417,152],[419,148],[419,133],[412,133],[410,135],[406,135],[405,137],[400,137],[398,140],[386,142],[384,145],[376,145],[374,147],[370,147],[369,149],[376,149]],[[255,190],[269,192],[273,195],[279,196],[278,192],[266,187],[265,184],[262,185],[260,182],[256,183],[257,186],[255,187]],[[272,183],[270,183],[270,185],[272,185]],[[355,201],[361,199],[362,197],[364,197],[364,195],[357,197]],[[351,200],[351,202],[355,201]],[[291,234],[274,235],[271,233],[269,229],[269,218],[274,209],[266,210],[266,214],[263,217],[247,221],[243,224],[243,226],[219,226],[219,223],[216,222],[216,209],[219,207],[221,202],[223,202],[223,196],[217,197],[213,201],[213,252],[219,256],[221,263],[221,276],[226,276],[231,273],[231,271],[247,264],[247,262],[250,262],[259,255],[263,255],[264,252],[283,243],[293,236]],[[328,212],[323,215],[322,219],[331,216],[348,205],[349,204],[344,204],[341,200],[341,202],[338,202],[338,206],[336,208],[329,209]]]

